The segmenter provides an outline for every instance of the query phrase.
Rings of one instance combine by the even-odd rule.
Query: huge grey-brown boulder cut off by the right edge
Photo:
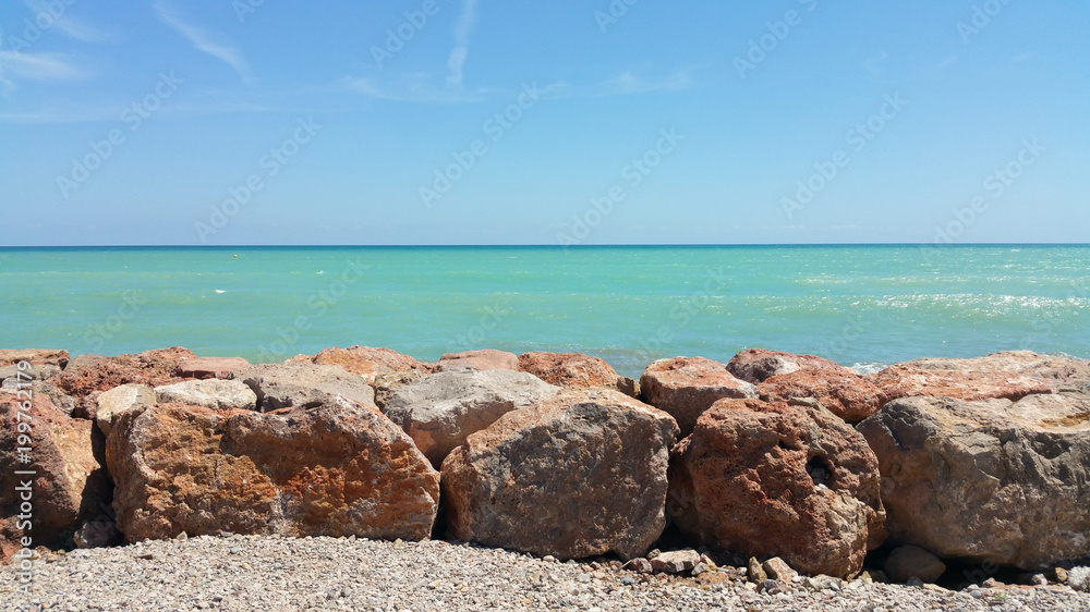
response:
[[[1031,571],[1090,554],[1090,399],[900,399],[857,427],[897,541]]]

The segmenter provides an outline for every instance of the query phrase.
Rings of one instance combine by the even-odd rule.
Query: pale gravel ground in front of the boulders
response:
[[[546,558],[548,559],[548,558]],[[1066,586],[949,591],[862,582],[758,593],[734,567],[644,576],[445,541],[228,536],[50,553],[2,610],[1088,610]]]

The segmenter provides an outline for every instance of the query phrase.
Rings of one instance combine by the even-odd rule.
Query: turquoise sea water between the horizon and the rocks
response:
[[[0,347],[1090,358],[1090,246],[0,248]]]

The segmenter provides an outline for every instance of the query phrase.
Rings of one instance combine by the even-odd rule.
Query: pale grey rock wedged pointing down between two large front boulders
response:
[[[526,372],[440,371],[395,391],[383,412],[438,467],[470,433],[559,391]]]

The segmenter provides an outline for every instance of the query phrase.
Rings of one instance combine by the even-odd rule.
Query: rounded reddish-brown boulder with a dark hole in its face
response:
[[[879,464],[822,408],[720,400],[674,450],[667,512],[689,538],[848,578],[885,538]]]

